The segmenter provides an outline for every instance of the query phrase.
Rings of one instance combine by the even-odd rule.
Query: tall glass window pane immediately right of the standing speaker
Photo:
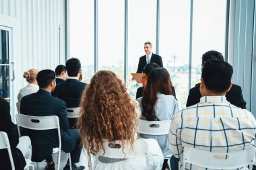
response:
[[[159,54],[182,108],[185,108],[189,92],[189,2],[160,1]]]

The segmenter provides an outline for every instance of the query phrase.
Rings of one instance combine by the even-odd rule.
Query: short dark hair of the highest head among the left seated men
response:
[[[81,62],[77,58],[70,58],[66,62],[67,75],[75,77],[81,69]]]

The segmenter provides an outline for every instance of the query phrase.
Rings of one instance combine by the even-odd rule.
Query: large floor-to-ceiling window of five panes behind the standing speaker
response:
[[[98,2],[96,8],[94,2]],[[153,44],[152,52],[156,53],[156,47],[159,48],[159,55],[184,108],[189,84],[193,87],[199,83],[202,54],[207,50],[225,53],[226,1],[193,0],[191,18],[191,1],[160,0],[159,44],[156,42],[157,0],[129,0],[127,13],[125,2],[69,1],[70,56],[82,60],[84,81],[88,83],[94,75],[95,59],[98,60],[98,70],[114,71],[121,79],[126,76],[127,90],[135,99],[136,90],[141,85],[131,81],[131,73],[137,71],[139,57],[145,54],[144,42],[150,41]],[[94,9],[97,15],[94,15]],[[95,16],[98,16],[98,28],[94,28]],[[125,16],[128,18],[127,32]],[[193,26],[192,32],[190,24]],[[126,33],[127,49],[124,39]],[[98,36],[98,48],[94,48],[94,34]],[[94,50],[97,50],[97,56],[94,56]]]

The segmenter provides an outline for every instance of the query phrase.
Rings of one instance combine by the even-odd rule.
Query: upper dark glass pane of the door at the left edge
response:
[[[0,65],[9,64],[9,38],[8,32],[0,30]]]

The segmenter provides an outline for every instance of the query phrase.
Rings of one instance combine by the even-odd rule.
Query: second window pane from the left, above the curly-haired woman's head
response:
[[[125,1],[98,1],[98,69],[124,77]]]

